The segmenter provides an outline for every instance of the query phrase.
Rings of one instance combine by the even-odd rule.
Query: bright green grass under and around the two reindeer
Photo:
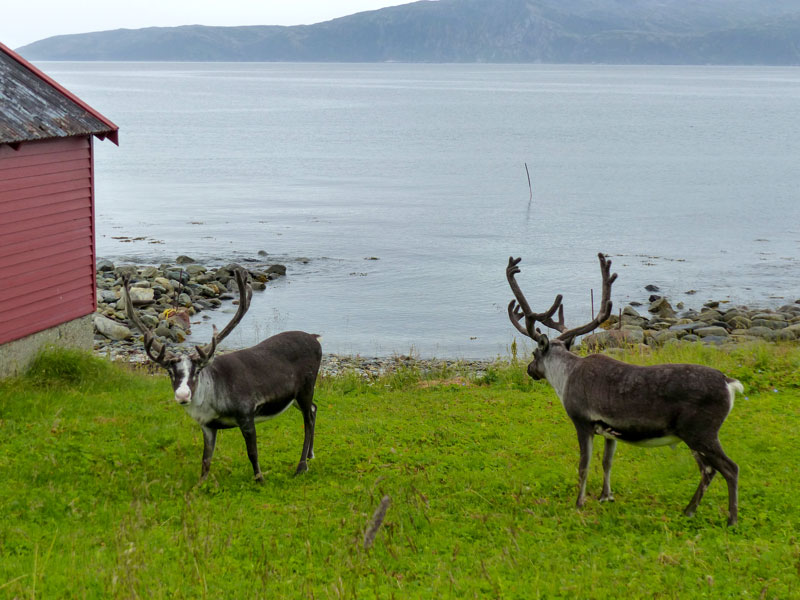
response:
[[[480,378],[408,369],[321,380],[310,471],[302,419],[258,427],[264,485],[222,432],[197,485],[199,428],[165,377],[70,352],[0,382],[0,598],[800,598],[800,348],[631,353],[746,386],[721,432],[740,524],[685,446],[599,452],[574,508],[578,449],[524,364]],[[370,550],[364,530],[392,504]]]

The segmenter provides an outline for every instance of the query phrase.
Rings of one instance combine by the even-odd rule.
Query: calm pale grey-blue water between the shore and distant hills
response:
[[[288,265],[233,344],[506,354],[511,254],[571,325],[598,251],[617,307],[651,283],[696,307],[800,298],[797,68],[40,66],[121,128],[96,145],[100,256]]]

